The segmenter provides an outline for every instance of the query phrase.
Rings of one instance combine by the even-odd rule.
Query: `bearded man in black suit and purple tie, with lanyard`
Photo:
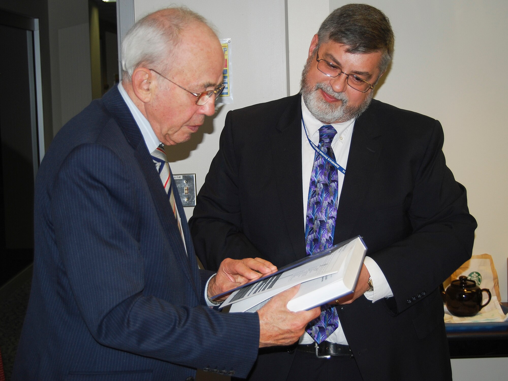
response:
[[[368,248],[354,293],[298,344],[260,350],[250,380],[452,379],[438,286],[477,225],[439,122],[372,100],[393,47],[382,12],[343,6],[312,38],[301,94],[226,118],[189,222],[206,268],[283,266],[357,235]]]

